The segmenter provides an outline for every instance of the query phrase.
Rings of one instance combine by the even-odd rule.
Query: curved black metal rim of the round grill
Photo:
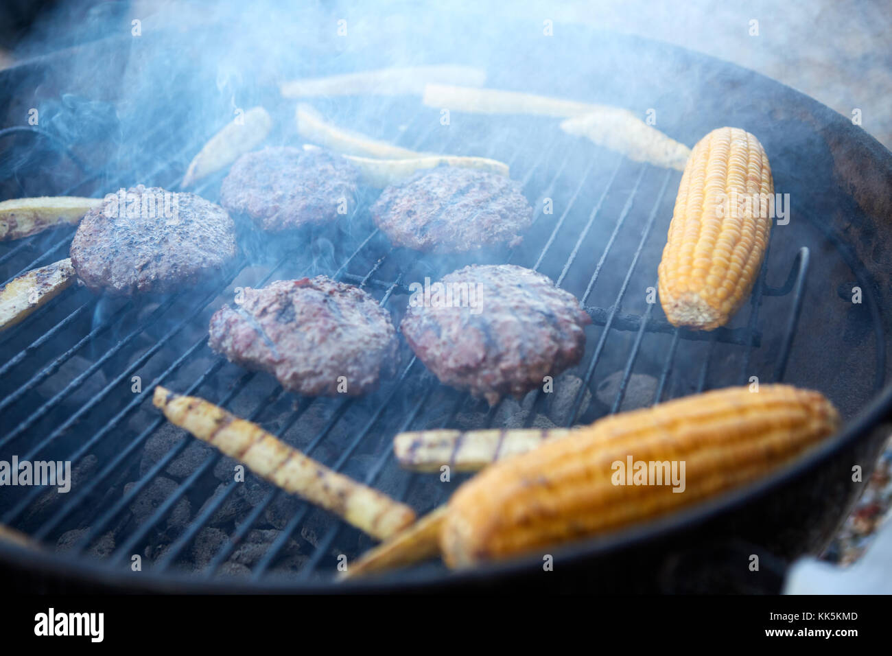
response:
[[[648,43],[644,39],[632,40]],[[712,60],[712,58],[706,55],[694,53],[686,48],[666,47],[683,51],[690,58]],[[739,74],[758,79],[764,85],[780,87],[784,93],[794,95],[800,104],[807,105],[815,116],[823,120],[824,127],[836,129],[844,135],[847,134],[851,137],[850,140],[856,142],[856,145],[863,147],[867,154],[873,155],[878,163],[882,165],[886,176],[892,179],[892,154],[873,137],[863,132],[863,130],[855,131],[849,122],[837,112],[830,110],[830,108],[818,103],[807,95],[801,94],[795,89],[784,87],[777,81],[765,78],[758,73],[747,71],[729,62],[722,62],[722,65],[730,70],[737,71]],[[848,130],[852,130],[852,132],[848,132]],[[813,223],[818,223],[814,218],[812,220]],[[871,275],[871,272],[866,270],[863,263],[855,259],[851,253],[849,253],[849,256],[852,258],[852,262],[847,263],[851,268],[871,283],[871,290],[879,291],[880,286]],[[870,295],[867,295],[867,297],[870,297]],[[873,303],[871,303],[871,311],[875,315],[879,315],[879,310]],[[882,321],[876,320],[875,325],[881,331]],[[881,339],[879,345],[880,347],[884,346]],[[884,373],[884,370],[885,367],[880,366],[880,375]],[[721,498],[714,500],[714,502],[699,504],[690,509],[690,511],[674,514],[664,520],[627,529],[606,538],[581,541],[555,549],[556,561],[562,560],[568,563],[584,561],[634,545],[656,541],[661,537],[683,532],[686,529],[701,525],[709,519],[714,519],[737,510],[751,502],[755,502],[759,498],[764,498],[764,496],[778,491],[785,484],[809,476],[814,472],[814,469],[827,464],[835,456],[838,456],[839,453],[845,451],[847,447],[867,440],[868,436],[874,432],[874,429],[883,428],[881,425],[888,422],[890,415],[892,415],[892,384],[885,386],[871,403],[863,408],[853,419],[850,419],[837,436],[806,454],[805,457],[789,467],[778,470],[757,484],[747,486],[731,494],[725,494]],[[143,589],[151,592],[183,592],[185,588],[194,592],[217,593],[332,593],[339,591],[381,592],[396,589],[420,590],[422,588],[431,589],[432,585],[443,583],[463,585],[485,581],[500,575],[517,576],[524,572],[529,573],[531,569],[541,564],[538,558],[528,557],[517,559],[516,561],[490,563],[473,570],[453,572],[447,577],[425,575],[424,573],[413,573],[407,577],[405,573],[397,573],[375,579],[347,581],[333,586],[329,584],[316,585],[307,583],[295,585],[293,581],[276,582],[269,580],[268,577],[262,579],[261,582],[248,583],[236,578],[218,578],[211,581],[202,581],[193,575],[178,575],[168,572],[133,574],[128,571],[115,571],[104,567],[102,564],[104,561],[93,561],[89,558],[78,559],[64,553],[57,554],[43,550],[32,550],[3,541],[0,541],[0,556],[3,557],[4,561],[14,564],[22,570],[39,569],[60,579],[81,580],[91,584],[102,584],[112,587],[120,586],[122,589],[129,591]]]

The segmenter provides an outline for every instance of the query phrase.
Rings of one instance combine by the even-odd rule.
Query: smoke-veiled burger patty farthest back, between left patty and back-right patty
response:
[[[281,232],[337,220],[355,206],[358,188],[359,170],[343,157],[270,147],[238,158],[223,179],[220,203],[263,230]]]

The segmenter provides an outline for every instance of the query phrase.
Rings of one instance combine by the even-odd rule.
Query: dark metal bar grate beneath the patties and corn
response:
[[[399,103],[386,107],[389,116],[405,112],[406,108]],[[744,316],[735,321],[736,327],[711,333],[673,328],[658,317],[658,311],[655,316],[654,304],[644,303],[643,298],[646,286],[656,287],[655,253],[662,245],[672,213],[673,190],[679,174],[617,159],[568,137],[536,152],[524,145],[522,126],[516,132],[500,129],[501,138],[492,140],[488,138],[489,126],[482,121],[468,120],[466,127],[453,126],[445,135],[433,114],[413,114],[405,125],[407,129],[394,140],[409,148],[507,157],[512,177],[524,183],[528,198],[535,199],[537,219],[524,245],[492,257],[494,262],[514,262],[542,270],[559,286],[573,291],[591,315],[593,326],[587,331],[586,355],[575,370],[582,378],[582,386],[574,395],[566,424],[591,420],[605,411],[618,411],[644,354],[657,378],[652,402],[709,386],[745,381],[752,373],[754,349],[769,337],[780,345],[780,350],[772,372],[760,370],[758,374],[766,382],[772,377],[784,378],[805,292],[807,248],[803,247],[794,261],[780,263],[780,273],[786,275],[779,287],[767,283],[770,267],[766,257],[748,314],[740,312]],[[167,124],[159,126],[154,134],[164,130],[175,133]],[[162,172],[175,168],[170,166],[172,161],[187,160],[202,141],[178,149],[161,166],[153,166],[153,157],[146,156],[131,170],[112,176],[112,164],[64,193],[96,183],[92,193],[100,195],[134,180],[173,187],[175,180]],[[171,137],[163,149],[153,146],[152,152],[166,152],[164,149],[176,142]],[[194,191],[214,199],[218,187],[219,177]],[[559,208],[557,217],[541,212],[545,198],[553,199]],[[274,575],[298,580],[328,577],[339,553],[352,558],[371,544],[356,529],[302,502],[294,503],[286,519],[273,524],[268,520],[268,511],[287,495],[252,479],[260,490],[259,498],[250,508],[223,523],[226,535],[210,558],[200,565],[190,562],[187,550],[211,527],[227,502],[235,498],[239,485],[232,481],[221,483],[214,476],[213,471],[223,458],[208,450],[190,473],[178,477],[176,487],[151,512],[136,521],[132,508],[140,495],[194,444],[191,438],[182,439],[158,460],[148,466],[141,464],[145,444],[165,426],[160,415],[149,407],[148,399],[158,384],[184,394],[201,395],[258,421],[333,469],[362,478],[368,485],[384,487],[417,511],[428,511],[448,498],[462,477],[443,484],[439,479],[402,472],[392,460],[391,436],[399,430],[458,425],[465,420],[461,419],[463,416],[476,417],[477,425],[489,427],[509,402],[486,408],[466,394],[441,386],[408,350],[399,376],[367,399],[295,399],[280,387],[270,386],[271,379],[266,375],[238,370],[211,353],[206,345],[206,319],[211,309],[227,302],[231,298],[230,287],[244,284],[245,279],[247,284],[261,286],[272,279],[325,273],[366,287],[380,298],[382,306],[399,315],[401,302],[394,297],[407,295],[409,282],[417,279],[419,272],[441,276],[458,268],[460,264],[450,258],[425,261],[417,253],[394,249],[376,229],[359,233],[359,226],[369,223],[363,220],[368,215],[369,200],[372,199],[366,199],[353,212],[347,234],[342,237],[343,245],[335,247],[334,256],[304,253],[306,249],[299,247],[286,248],[277,259],[264,265],[262,275],[255,271],[246,278],[256,266],[242,262],[224,289],[204,294],[184,292],[151,307],[138,301],[109,301],[84,290],[73,290],[3,336],[0,344],[4,348],[13,342],[23,347],[0,366],[0,377],[7,381],[4,387],[15,381],[4,389],[0,401],[5,427],[0,437],[0,454],[6,457],[17,453],[22,460],[52,457],[72,461],[73,465],[95,458],[95,464],[89,475],[58,502],[45,502],[42,488],[6,491],[0,504],[5,509],[2,522],[49,545],[63,534],[73,535],[66,547],[81,554],[95,552],[102,537],[111,532],[114,547],[104,553],[111,567],[127,568],[132,554],[145,555],[152,548],[153,570],[188,565],[195,576],[201,577],[218,574],[253,529],[268,526],[274,526],[278,533],[252,561],[250,576],[255,580]],[[33,245],[43,242],[32,238],[14,245],[0,255],[0,265],[4,271],[12,271],[12,278],[23,270],[59,259],[70,244],[70,231],[56,237],[53,245],[45,250],[41,246],[37,257],[24,266],[20,262],[22,256],[33,256]],[[623,266],[617,267],[615,260],[624,262]],[[640,284],[642,280],[648,282]],[[763,300],[770,296],[787,297],[787,314],[780,329],[776,321],[764,322],[760,318]],[[85,325],[89,326],[86,333],[76,332]],[[28,343],[24,336],[34,335],[35,327],[40,327],[40,336]],[[67,347],[66,337],[74,340]],[[61,343],[62,353],[54,354],[56,341]],[[682,345],[690,345],[691,350],[680,361]],[[715,375],[712,364],[720,356],[739,363],[739,370],[721,381],[711,378]],[[598,380],[596,371],[599,366],[607,366],[606,360],[610,360],[607,364],[611,366],[618,363],[622,371],[615,398],[607,409],[594,415],[591,407],[595,404],[589,403],[587,414],[583,411],[586,390],[591,392],[592,384]],[[79,366],[80,362],[85,366]],[[61,378],[60,371],[66,367],[74,369],[70,380],[63,381],[53,394],[37,394],[47,383]],[[132,393],[131,377],[144,372],[151,375],[144,377],[142,392]],[[692,378],[688,376],[690,372],[696,372]],[[92,384],[91,380],[97,378],[108,382]],[[92,387],[87,398],[78,398],[89,385]],[[532,425],[541,414],[545,397],[538,391],[524,401],[525,426]],[[289,403],[293,407],[283,407]],[[129,485],[125,488],[126,484]],[[185,523],[165,524],[185,501],[190,502],[190,507],[198,506],[198,510],[190,511]],[[305,527],[312,527],[312,534],[299,532]],[[283,552],[293,542],[298,544],[301,557],[283,564]]]

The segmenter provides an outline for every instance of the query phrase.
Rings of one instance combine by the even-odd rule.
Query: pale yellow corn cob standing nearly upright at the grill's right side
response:
[[[772,228],[760,200],[773,194],[768,157],[745,130],[714,129],[694,146],[659,266],[673,325],[718,328],[747,300]]]

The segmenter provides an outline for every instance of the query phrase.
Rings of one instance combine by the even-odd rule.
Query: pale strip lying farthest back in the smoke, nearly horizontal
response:
[[[486,71],[470,66],[434,65],[362,71],[324,78],[283,82],[279,90],[286,98],[321,95],[403,95],[420,94],[428,82],[480,87]]]

